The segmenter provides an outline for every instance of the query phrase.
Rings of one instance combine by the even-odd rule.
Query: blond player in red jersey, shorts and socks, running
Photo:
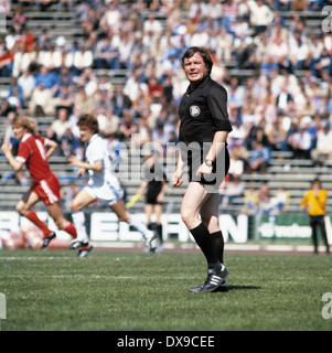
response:
[[[33,181],[31,189],[18,203],[17,211],[43,232],[42,249],[49,246],[56,234],[49,229],[47,225],[31,210],[40,201],[45,204],[55,225],[60,229],[67,232],[73,238],[76,238],[75,226],[64,218],[62,208],[58,205],[61,185],[49,165],[49,158],[54,153],[57,143],[40,137],[36,133],[36,124],[30,117],[17,117],[12,127],[15,138],[21,140],[18,156],[13,157],[10,143],[4,143],[1,150],[14,171],[21,170],[25,164]]]

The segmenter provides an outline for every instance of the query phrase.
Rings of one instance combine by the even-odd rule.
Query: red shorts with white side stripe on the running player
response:
[[[36,193],[46,206],[60,201],[60,181],[54,174],[32,185],[31,191]]]

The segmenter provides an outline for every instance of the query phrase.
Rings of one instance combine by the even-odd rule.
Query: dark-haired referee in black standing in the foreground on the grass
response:
[[[227,290],[224,238],[218,224],[218,190],[229,168],[226,140],[232,126],[227,94],[211,78],[213,62],[206,50],[189,49],[182,57],[182,66],[190,85],[179,106],[181,153],[172,182],[174,186],[183,183],[188,165],[189,185],[181,217],[207,261],[205,282],[189,290]]]

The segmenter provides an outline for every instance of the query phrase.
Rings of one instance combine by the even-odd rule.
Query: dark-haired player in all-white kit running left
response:
[[[97,119],[90,115],[84,115],[79,118],[77,126],[79,127],[81,140],[87,143],[86,162],[71,156],[69,163],[79,168],[79,178],[88,171],[89,181],[74,197],[71,205],[73,221],[78,233],[77,240],[72,243],[71,248],[81,248],[79,256],[82,257],[86,256],[92,249],[92,246],[88,245],[84,214],[81,210],[98,201],[99,204],[109,206],[120,222],[127,222],[139,231],[150,253],[153,254],[157,247],[157,234],[148,229],[138,216],[131,215],[126,210],[122,201],[124,190],[118,179],[113,174],[107,142],[98,135]]]

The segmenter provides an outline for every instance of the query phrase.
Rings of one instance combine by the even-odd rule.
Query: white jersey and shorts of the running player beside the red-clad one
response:
[[[101,171],[88,170],[89,181],[87,190],[89,194],[108,205],[117,203],[118,200],[122,199],[124,191],[118,179],[113,174],[107,141],[95,133],[87,146],[85,156],[89,164],[103,161]]]

